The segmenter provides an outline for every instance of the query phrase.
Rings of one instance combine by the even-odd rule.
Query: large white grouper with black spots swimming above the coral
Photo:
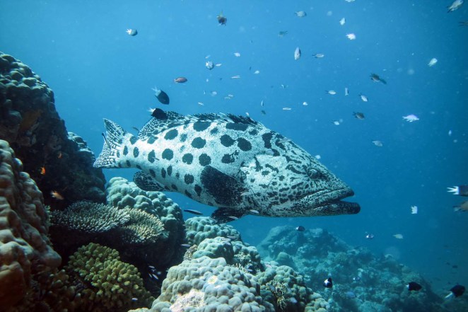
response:
[[[227,222],[245,214],[356,214],[353,190],[291,140],[250,117],[180,115],[156,109],[138,136],[105,119],[96,168],[138,168],[142,190],[180,192],[218,207]]]

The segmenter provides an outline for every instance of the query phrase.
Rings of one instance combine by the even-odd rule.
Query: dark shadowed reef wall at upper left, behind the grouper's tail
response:
[[[0,52],[0,139],[8,141],[24,170],[52,207],[78,200],[104,202],[105,178],[93,168],[86,142],[66,132],[54,105],[54,93],[37,74]]]

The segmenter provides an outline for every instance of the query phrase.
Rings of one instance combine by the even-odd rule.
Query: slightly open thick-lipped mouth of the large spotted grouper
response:
[[[337,214],[357,214],[361,206],[357,202],[345,202],[344,198],[353,196],[351,187],[338,190],[322,190],[315,192],[312,200],[312,211],[315,216],[331,216]]]

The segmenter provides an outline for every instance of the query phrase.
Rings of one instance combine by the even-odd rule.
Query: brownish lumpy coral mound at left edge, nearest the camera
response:
[[[0,140],[0,306],[6,310],[39,297],[38,273],[62,261],[47,238],[42,194],[22,169]]]

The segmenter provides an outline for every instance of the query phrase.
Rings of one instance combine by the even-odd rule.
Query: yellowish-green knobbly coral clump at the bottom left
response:
[[[151,294],[138,270],[122,262],[117,250],[90,243],[78,248],[65,267],[80,291],[80,311],[127,311],[148,306]]]

